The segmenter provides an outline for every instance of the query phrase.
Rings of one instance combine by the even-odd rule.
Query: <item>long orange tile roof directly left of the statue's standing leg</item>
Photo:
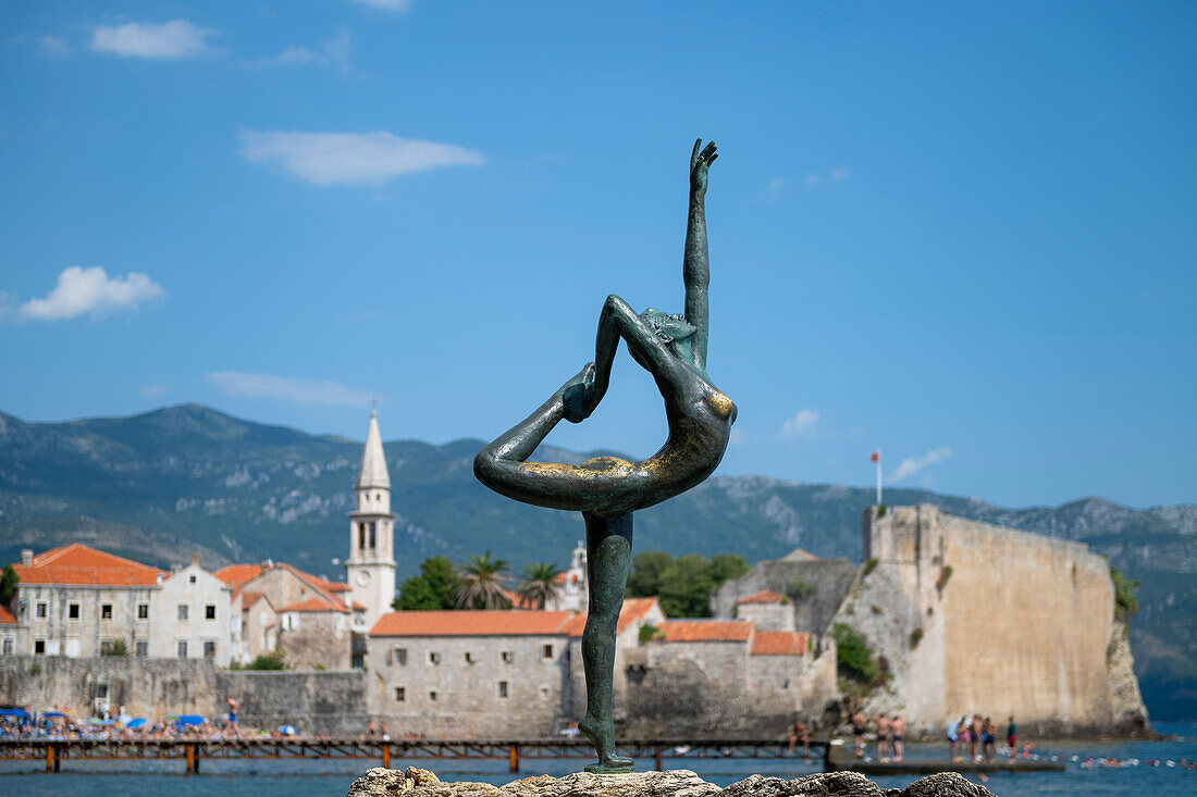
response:
[[[391,612],[370,629],[371,637],[515,637],[559,634],[572,612],[527,609]]]

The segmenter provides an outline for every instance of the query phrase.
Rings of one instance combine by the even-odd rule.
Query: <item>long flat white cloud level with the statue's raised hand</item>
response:
[[[480,152],[452,144],[401,139],[390,133],[242,130],[241,154],[274,164],[317,185],[381,184],[399,175],[438,166],[479,166]]]

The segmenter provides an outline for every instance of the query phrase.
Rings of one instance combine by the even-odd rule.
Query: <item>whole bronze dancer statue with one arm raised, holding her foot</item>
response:
[[[588,772],[632,772],[632,760],[615,755],[612,676],[615,628],[632,555],[632,512],[686,492],[718,467],[728,448],[736,407],[706,376],[707,169],[718,157],[715,142],[694,142],[689,159],[689,215],[682,279],[686,312],[649,308],[640,315],[618,296],[607,297],[598,316],[595,361],[506,434],[482,449],[474,474],[491,489],[525,504],[582,512],[587,528],[590,603],[582,633],[587,713],[578,730],[598,753]],[[578,424],[607,393],[619,340],[652,375],[666,403],[669,437],[642,462],[595,457],[579,466],[525,462],[561,419]]]

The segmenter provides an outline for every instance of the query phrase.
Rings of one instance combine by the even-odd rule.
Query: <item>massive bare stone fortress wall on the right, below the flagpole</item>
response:
[[[891,674],[867,712],[935,729],[1013,714],[1037,735],[1146,728],[1105,559],[932,505],[871,507],[863,533],[865,565],[833,622]]]

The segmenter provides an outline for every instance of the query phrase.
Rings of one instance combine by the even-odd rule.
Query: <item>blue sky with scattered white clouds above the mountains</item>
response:
[[[1197,500],[1197,7],[0,4],[0,409],[493,437],[681,309],[721,473]],[[99,270],[102,269],[102,270]],[[551,442],[651,454],[622,354]]]

